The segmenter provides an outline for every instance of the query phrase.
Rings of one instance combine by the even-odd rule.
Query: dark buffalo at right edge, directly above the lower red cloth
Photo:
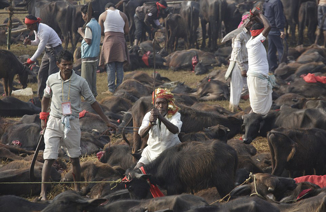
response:
[[[281,176],[284,169],[306,171],[306,175],[324,174],[326,131],[323,129],[288,129],[279,127],[267,134],[271,154],[271,174]]]

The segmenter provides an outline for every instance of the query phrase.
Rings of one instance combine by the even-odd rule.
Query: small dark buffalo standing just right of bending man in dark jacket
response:
[[[188,25],[186,20],[179,14],[169,14],[165,19],[166,44],[169,53],[178,47],[179,38],[184,39],[184,48],[189,48]]]

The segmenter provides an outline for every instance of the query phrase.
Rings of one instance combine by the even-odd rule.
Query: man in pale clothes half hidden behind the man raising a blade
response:
[[[249,16],[249,12],[242,15],[242,20],[238,28],[240,28],[243,21],[249,18]],[[240,34],[238,34],[235,38],[232,38],[230,65],[225,77],[227,79],[231,75],[229,109],[232,112],[236,112],[236,110],[239,108],[241,95],[248,95],[248,51],[246,48],[246,43],[251,37],[249,32],[251,25],[252,21],[250,21],[247,26],[243,28],[243,31]]]

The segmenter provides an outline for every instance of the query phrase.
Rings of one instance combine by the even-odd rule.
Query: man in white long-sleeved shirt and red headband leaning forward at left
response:
[[[46,86],[46,80],[52,73],[57,73],[59,68],[56,64],[56,55],[63,49],[61,45],[61,39],[58,34],[50,28],[50,26],[40,23],[41,19],[36,18],[34,15],[28,15],[25,17],[25,24],[27,28],[34,31],[35,40],[31,41],[28,38],[24,39],[24,43],[29,45],[38,46],[32,58],[29,58],[24,65],[33,64],[38,57],[43,53],[41,66],[38,73],[38,89],[37,94],[39,98],[43,97],[43,92]]]

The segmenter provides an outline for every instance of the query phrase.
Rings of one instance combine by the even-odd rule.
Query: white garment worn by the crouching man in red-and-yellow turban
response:
[[[142,129],[149,125],[149,117],[151,112],[145,114],[142,126],[139,128],[139,133]],[[174,114],[171,118],[168,118],[168,115],[165,118],[170,121],[172,124],[176,125],[179,129],[179,133],[182,126],[182,121],[180,120],[181,115],[179,112]],[[158,120],[156,121],[158,122]],[[161,129],[159,130],[158,123],[149,130],[149,138],[147,140],[147,147],[143,150],[142,157],[138,163],[147,164],[153,161],[162,151],[166,150],[169,147],[180,144],[178,134],[173,134],[169,129],[161,123]]]

